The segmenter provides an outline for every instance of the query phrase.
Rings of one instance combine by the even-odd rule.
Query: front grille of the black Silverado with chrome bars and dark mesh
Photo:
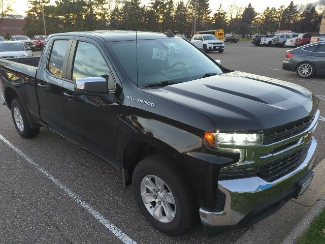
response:
[[[273,130],[272,140],[262,145],[236,146],[244,161],[223,167],[219,179],[258,176],[273,182],[299,167],[317,126],[319,110],[313,117]],[[271,135],[271,133],[269,134]],[[275,138],[277,139],[276,141]]]

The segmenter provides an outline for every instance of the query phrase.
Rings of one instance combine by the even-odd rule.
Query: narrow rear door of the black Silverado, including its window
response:
[[[40,60],[44,67],[38,69],[37,96],[40,116],[45,124],[64,135],[62,83],[66,76],[68,56],[72,41],[53,40],[50,50]]]

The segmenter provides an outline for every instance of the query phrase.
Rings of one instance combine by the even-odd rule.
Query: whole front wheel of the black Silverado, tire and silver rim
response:
[[[184,171],[167,156],[143,159],[132,177],[133,192],[145,218],[169,235],[181,235],[199,218],[199,207]]]

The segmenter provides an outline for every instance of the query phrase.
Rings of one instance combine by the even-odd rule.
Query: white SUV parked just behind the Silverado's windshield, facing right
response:
[[[223,52],[224,50],[224,42],[210,34],[194,35],[191,43],[193,43],[196,47],[203,49],[205,52]]]

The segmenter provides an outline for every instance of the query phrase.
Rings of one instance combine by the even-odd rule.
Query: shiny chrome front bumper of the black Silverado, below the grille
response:
[[[316,147],[316,139],[312,137],[304,162],[296,170],[273,182],[267,182],[258,176],[220,180],[218,188],[226,196],[224,210],[212,212],[200,208],[202,223],[206,226],[236,226],[259,206],[272,202],[284,192],[295,191],[297,182],[314,164]]]

